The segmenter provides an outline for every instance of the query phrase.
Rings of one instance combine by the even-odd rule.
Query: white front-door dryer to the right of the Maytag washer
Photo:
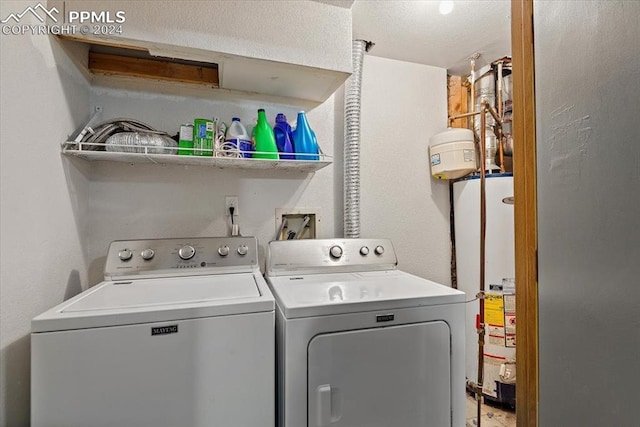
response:
[[[269,244],[280,427],[462,427],[463,292],[396,269],[389,240]]]

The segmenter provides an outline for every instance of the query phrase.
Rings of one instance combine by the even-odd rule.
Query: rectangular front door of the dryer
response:
[[[308,426],[451,426],[450,335],[434,321],[314,337]]]

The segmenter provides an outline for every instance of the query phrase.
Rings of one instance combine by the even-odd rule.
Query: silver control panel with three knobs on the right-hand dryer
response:
[[[277,240],[269,243],[267,274],[395,269],[389,239]]]

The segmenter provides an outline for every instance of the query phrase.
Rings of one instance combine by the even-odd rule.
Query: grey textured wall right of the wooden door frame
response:
[[[534,2],[541,426],[640,419],[638,16]]]

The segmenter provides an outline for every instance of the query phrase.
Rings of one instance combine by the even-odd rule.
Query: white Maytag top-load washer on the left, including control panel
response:
[[[116,241],[33,319],[33,427],[273,426],[274,300],[253,237]]]

